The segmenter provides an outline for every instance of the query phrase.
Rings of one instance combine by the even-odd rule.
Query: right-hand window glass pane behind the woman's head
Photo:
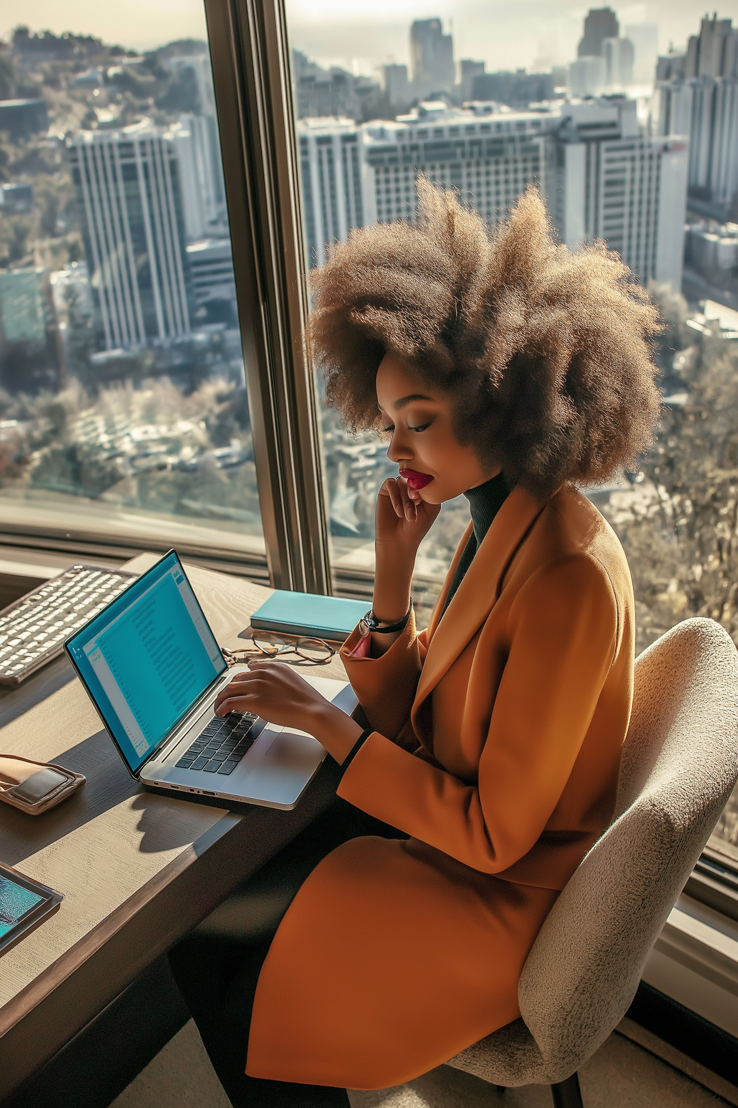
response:
[[[728,140],[715,130],[725,117],[716,78],[736,73],[738,31],[729,20],[700,24],[696,4],[661,30],[635,9],[620,25],[607,8],[585,22],[579,11],[537,13],[533,30],[524,6],[485,16],[459,0],[455,38],[450,22],[413,4],[361,0],[350,17],[330,0],[287,7],[310,266],[351,227],[412,220],[424,171],[490,223],[537,181],[563,242],[605,238],[651,288],[668,324],[656,355],[658,439],[637,472],[589,493],[631,563],[637,650],[694,615],[738,643],[738,177],[717,171]],[[699,50],[688,35],[701,37]],[[658,59],[668,39],[675,47]],[[706,99],[690,114],[686,79],[700,74]],[[690,121],[707,130],[689,135]],[[686,137],[710,153],[687,164]],[[710,191],[710,181],[720,183]],[[396,468],[383,443],[351,439],[325,409],[323,450],[336,591],[368,594],[374,501]],[[420,622],[468,517],[464,497],[445,505],[420,547]],[[738,863],[738,793],[710,843]]]

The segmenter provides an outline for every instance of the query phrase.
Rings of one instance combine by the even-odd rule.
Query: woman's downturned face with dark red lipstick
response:
[[[474,448],[458,442],[448,393],[429,388],[392,355],[377,370],[376,399],[384,428],[392,432],[387,458],[420,500],[441,504],[499,473],[499,466],[485,469]]]

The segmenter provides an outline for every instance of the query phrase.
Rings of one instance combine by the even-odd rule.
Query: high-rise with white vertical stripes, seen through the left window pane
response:
[[[69,144],[105,349],[189,331],[185,217],[171,131],[147,120]]]

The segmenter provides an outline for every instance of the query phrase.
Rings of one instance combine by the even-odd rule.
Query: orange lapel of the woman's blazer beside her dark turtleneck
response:
[[[414,724],[423,701],[427,699],[440,678],[487,619],[497,603],[502,577],[512,556],[543,511],[547,502],[536,500],[520,485],[512,489],[492,520],[491,526],[471,560],[461,584],[451,597],[441,622],[443,603],[448,595],[454,579],[454,571],[470,533],[470,527],[467,529],[446,577],[438,603],[434,608],[433,619],[435,624],[432,620],[427,654],[413,705],[412,719]],[[420,727],[419,730],[423,728]],[[416,733],[418,733],[417,730]],[[418,737],[420,737],[419,733]]]

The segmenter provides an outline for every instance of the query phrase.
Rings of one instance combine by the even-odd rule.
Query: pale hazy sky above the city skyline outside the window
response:
[[[596,0],[602,7],[605,0]],[[582,20],[590,7],[575,0],[287,0],[292,44],[323,64],[334,62],[371,72],[383,61],[407,61],[413,19],[453,20],[455,55],[484,59],[488,69],[530,68],[536,58],[575,57]],[[204,38],[201,0],[23,0],[0,33],[21,22],[31,30],[95,34],[106,42],[145,50],[177,38]],[[661,49],[684,45],[699,27],[705,9],[695,0],[651,0],[613,4],[624,29],[628,22],[658,23]],[[718,14],[738,24],[738,0],[726,0]]]

